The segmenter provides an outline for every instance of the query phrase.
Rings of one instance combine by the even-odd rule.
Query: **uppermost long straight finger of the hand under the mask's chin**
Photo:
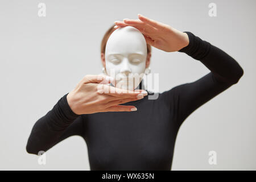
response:
[[[106,94],[109,96],[122,97],[122,98],[137,98],[147,93],[146,90],[143,90],[143,92],[135,92],[133,90],[119,89],[114,86],[104,85],[104,84],[98,84],[97,92],[100,94]]]

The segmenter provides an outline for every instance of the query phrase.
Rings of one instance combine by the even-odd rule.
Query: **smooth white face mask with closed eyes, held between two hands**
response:
[[[134,27],[115,30],[105,49],[106,72],[115,78],[115,87],[134,90],[146,69],[147,43],[143,34]]]

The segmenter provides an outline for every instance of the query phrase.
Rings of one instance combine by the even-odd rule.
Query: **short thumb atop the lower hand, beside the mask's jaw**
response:
[[[109,83],[114,84],[114,78],[107,76],[107,75],[86,75],[82,79],[83,84],[88,84],[88,83],[101,83],[101,84],[109,84]]]

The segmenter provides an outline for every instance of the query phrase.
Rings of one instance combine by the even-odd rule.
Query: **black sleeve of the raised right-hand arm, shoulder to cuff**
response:
[[[243,69],[233,57],[205,40],[185,32],[189,45],[179,52],[187,53],[193,59],[201,61],[210,73],[191,83],[176,86],[177,121],[179,125],[194,110],[217,96],[219,93],[236,84],[243,75]]]

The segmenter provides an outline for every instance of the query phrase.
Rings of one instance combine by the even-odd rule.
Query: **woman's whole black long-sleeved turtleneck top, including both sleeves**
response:
[[[198,107],[236,84],[243,69],[227,53],[191,32],[184,52],[210,72],[194,82],[175,86],[123,105],[137,111],[77,115],[67,94],[32,128],[27,152],[47,151],[61,140],[80,135],[88,147],[91,170],[170,170],[181,123]],[[140,85],[142,86],[142,85]]]

